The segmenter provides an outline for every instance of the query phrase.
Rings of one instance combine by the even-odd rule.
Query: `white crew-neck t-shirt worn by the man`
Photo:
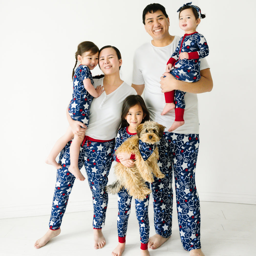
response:
[[[160,77],[166,69],[166,63],[175,51],[179,36],[175,36],[171,44],[164,47],[153,46],[151,41],[139,47],[133,59],[133,84],[145,84],[144,100],[150,113],[150,119],[166,126],[168,130],[175,119],[174,110],[165,115],[161,112],[165,106],[164,93],[160,88]],[[209,68],[206,59],[200,59],[200,70]],[[193,93],[185,94],[185,124],[177,128],[175,133],[199,133],[199,120],[197,112],[197,95]]]

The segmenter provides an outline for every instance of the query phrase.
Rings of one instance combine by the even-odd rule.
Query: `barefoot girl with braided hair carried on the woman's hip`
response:
[[[77,61],[81,64],[77,67]],[[98,98],[104,91],[102,86],[94,88],[92,73],[90,70],[98,65],[99,48],[90,41],[81,42],[77,47],[76,64],[73,68],[73,94],[70,101],[68,112],[73,120],[81,122],[81,127],[86,128],[89,123],[90,105],[93,98]],[[80,152],[80,145],[84,136],[74,135],[69,127],[66,133],[60,137],[52,148],[49,156],[45,162],[53,165],[56,169],[62,168],[60,163],[56,162],[56,157],[65,145],[72,141],[70,145],[70,166],[69,172],[77,179],[83,181],[85,178],[78,168],[78,157]]]

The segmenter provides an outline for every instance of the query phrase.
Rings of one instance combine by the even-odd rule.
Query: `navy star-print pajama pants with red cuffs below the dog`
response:
[[[148,188],[149,183],[146,183]],[[130,196],[125,188],[118,193],[118,219],[117,219],[117,229],[118,229],[118,240],[120,243],[125,242],[125,236],[127,231],[128,218],[130,215],[132,196]],[[135,198],[135,209],[136,216],[140,227],[140,240],[141,249],[147,249],[147,243],[149,238],[149,220],[148,220],[148,201],[149,195],[144,200],[138,200]],[[145,245],[146,244],[146,245]],[[145,249],[144,249],[145,250]]]

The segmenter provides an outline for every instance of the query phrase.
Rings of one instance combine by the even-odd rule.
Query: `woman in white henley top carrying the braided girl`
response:
[[[113,161],[115,136],[121,122],[121,110],[124,99],[136,91],[120,79],[119,70],[122,65],[121,54],[114,46],[104,46],[99,51],[99,66],[104,78],[94,79],[94,86],[102,85],[104,92],[91,103],[90,123],[85,125],[73,120],[67,113],[68,122],[74,134],[86,135],[81,145],[78,166],[84,165],[88,176],[89,186],[93,195],[93,234],[94,248],[102,248],[105,238],[101,228],[104,226],[108,194],[103,188],[107,184],[107,177]],[[97,113],[97,115],[96,115]],[[65,146],[59,156],[63,168],[57,170],[57,182],[49,227],[46,234],[38,239],[34,246],[40,248],[51,238],[60,234],[62,216],[66,210],[67,201],[75,177],[68,172],[70,165],[69,147]]]

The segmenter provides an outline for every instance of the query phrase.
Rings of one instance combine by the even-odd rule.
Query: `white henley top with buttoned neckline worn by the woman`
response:
[[[103,78],[93,79],[94,87],[103,86]],[[106,95],[93,98],[90,106],[89,124],[85,135],[96,140],[111,140],[116,137],[121,124],[121,114],[124,99],[136,91],[123,82],[116,90]]]

